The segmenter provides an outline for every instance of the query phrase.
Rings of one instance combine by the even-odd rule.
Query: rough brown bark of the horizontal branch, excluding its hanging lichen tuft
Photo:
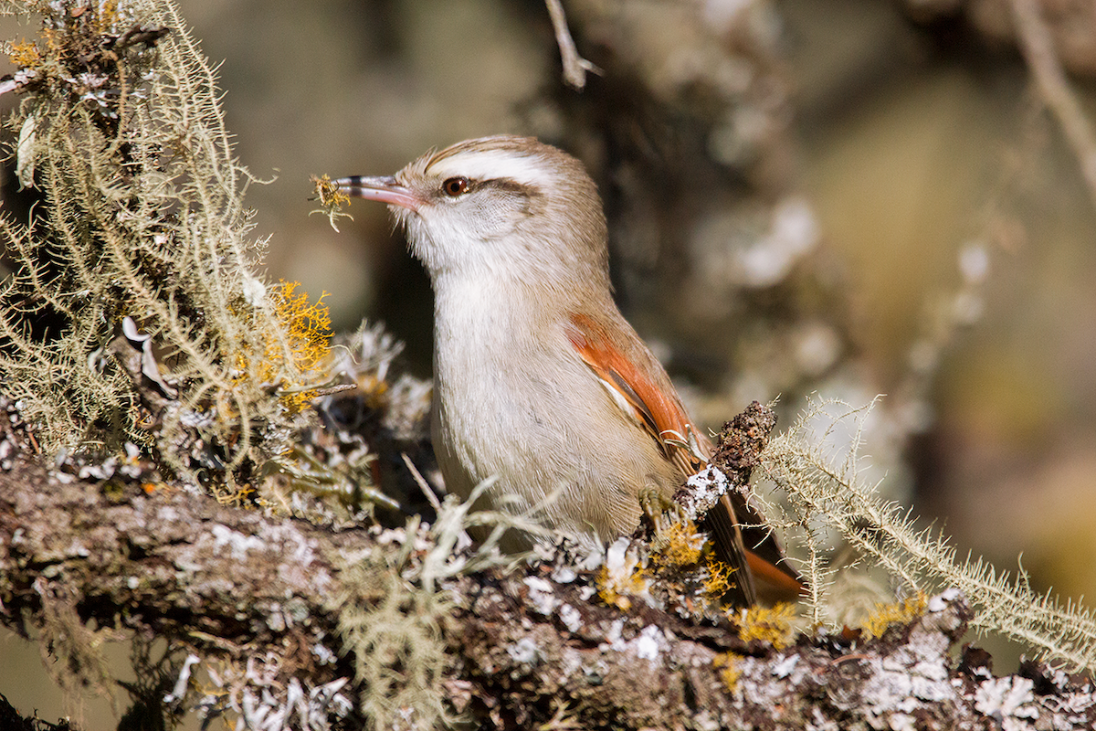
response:
[[[343,568],[350,557],[398,544],[400,532],[333,529],[117,476],[80,479],[12,455],[19,439],[4,436],[4,624],[45,628],[42,641],[58,648],[58,627],[90,632],[94,620],[207,660],[277,658],[279,687],[289,676],[308,688],[352,675],[350,659],[332,664],[315,651],[340,648],[331,597],[354,594]],[[411,544],[412,555],[431,548]],[[817,633],[777,649],[742,640],[727,620],[698,623],[642,601],[607,606],[595,589],[594,572],[575,568],[567,550],[532,568],[445,583],[452,604],[439,629],[450,658],[438,690],[450,713],[505,729],[1096,723],[1092,687],[1065,673],[1029,663],[994,677],[987,655],[970,649],[952,660],[967,618],[957,592],[879,639]]]

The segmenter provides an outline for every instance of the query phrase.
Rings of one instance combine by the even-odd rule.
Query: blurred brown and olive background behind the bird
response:
[[[1096,119],[1096,4],[1037,4]],[[271,181],[248,193],[267,274],[326,293],[336,329],[383,320],[430,374],[429,282],[386,210],[336,233],[309,175],[538,136],[598,182],[621,308],[699,421],[886,395],[861,453],[888,496],[960,555],[1096,594],[1096,196],[1011,2],[567,0],[602,70],[581,92],[538,0],[180,5]]]

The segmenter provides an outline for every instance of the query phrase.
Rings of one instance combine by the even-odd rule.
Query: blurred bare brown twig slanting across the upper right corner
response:
[[[1081,163],[1088,194],[1096,204],[1096,133],[1085,118],[1062,64],[1054,50],[1050,28],[1037,0],[1011,0],[1016,37],[1043,103],[1058,117],[1065,139]]]

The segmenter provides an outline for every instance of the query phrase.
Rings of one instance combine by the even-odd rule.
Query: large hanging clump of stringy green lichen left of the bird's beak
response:
[[[52,449],[151,443],[183,473],[279,452],[324,353],[326,312],[252,273],[252,178],[174,4],[4,9],[41,18],[38,37],[10,50],[25,98],[8,121],[20,180],[41,198],[0,220],[13,265],[0,388]],[[159,390],[115,357],[124,317],[149,336]]]

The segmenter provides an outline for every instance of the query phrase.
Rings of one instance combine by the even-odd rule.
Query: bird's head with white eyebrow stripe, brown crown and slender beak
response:
[[[335,184],[388,204],[435,281],[467,274],[608,286],[596,186],[582,163],[536,139],[469,139],[427,152],[395,175]]]

